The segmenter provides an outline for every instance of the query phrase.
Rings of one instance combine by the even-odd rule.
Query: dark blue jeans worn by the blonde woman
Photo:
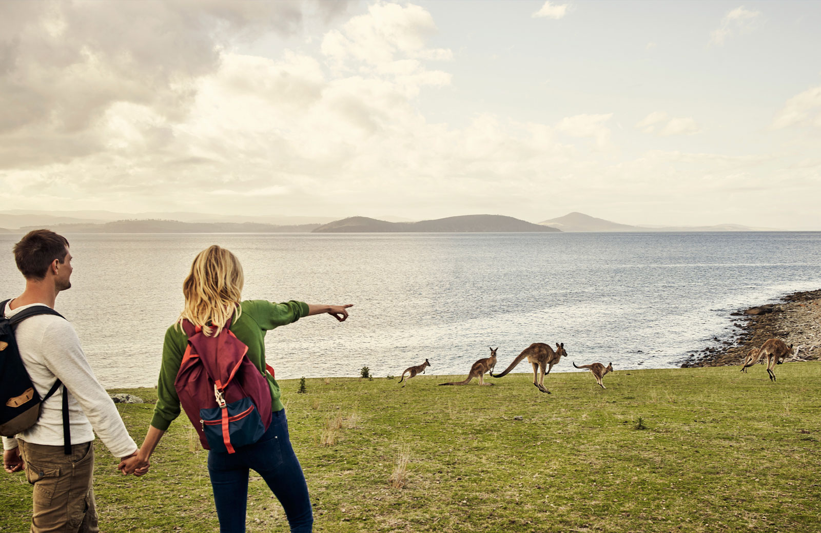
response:
[[[308,485],[291,448],[285,409],[271,418],[271,426],[254,444],[237,448],[235,453],[209,451],[208,471],[220,533],[245,533],[249,470],[257,471],[282,503],[291,533],[313,531]]]

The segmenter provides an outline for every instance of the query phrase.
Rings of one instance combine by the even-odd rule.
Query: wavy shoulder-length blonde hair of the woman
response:
[[[235,311],[236,318],[242,313],[240,303],[244,282],[242,265],[233,253],[217,245],[205,248],[194,258],[191,270],[182,282],[186,307],[177,324],[188,319],[194,326],[202,326],[206,336],[212,335],[211,326],[216,326],[213,335],[219,335]]]

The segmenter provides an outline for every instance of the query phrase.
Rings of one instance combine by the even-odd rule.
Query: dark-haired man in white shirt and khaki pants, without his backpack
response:
[[[2,312],[13,317],[34,305],[54,307],[57,294],[71,287],[68,241],[49,230],[34,230],[14,245],[17,268],[25,276],[23,294]],[[55,315],[21,321],[17,348],[34,387],[43,398],[56,380],[57,389],[40,406],[39,420],[16,438],[3,437],[3,467],[11,473],[25,469],[34,485],[31,532],[99,531],[92,476],[96,433],[123,461],[136,460],[137,446],[126,431],[117,407],[94,377],[71,324]],[[63,443],[62,395],[68,391],[68,434]],[[70,452],[70,453],[67,453]]]

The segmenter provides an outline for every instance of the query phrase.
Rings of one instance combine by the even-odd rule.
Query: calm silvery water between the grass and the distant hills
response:
[[[24,281],[0,235],[2,298]],[[351,317],[306,317],[270,331],[277,378],[466,374],[488,346],[506,367],[533,342],[563,342],[577,364],[675,367],[728,313],[821,287],[821,233],[67,235],[75,325],[108,387],[156,383],[182,280],[210,244],[245,270],[244,298],[354,303]],[[517,370],[530,371],[523,364]]]

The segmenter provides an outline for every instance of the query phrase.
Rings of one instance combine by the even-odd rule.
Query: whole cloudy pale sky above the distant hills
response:
[[[821,2],[0,2],[0,209],[821,230]]]

